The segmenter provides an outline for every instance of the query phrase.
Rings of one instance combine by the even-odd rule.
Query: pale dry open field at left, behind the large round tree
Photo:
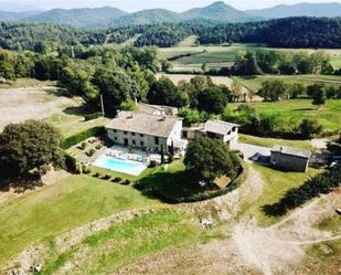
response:
[[[84,121],[84,115],[94,110],[82,98],[57,96],[54,87],[0,89],[0,130],[11,123],[44,119],[67,137],[107,121],[106,118]]]

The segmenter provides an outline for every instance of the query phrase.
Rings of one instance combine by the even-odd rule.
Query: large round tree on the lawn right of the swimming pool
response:
[[[222,176],[235,178],[241,167],[222,141],[205,137],[190,141],[184,163],[199,180],[210,182]]]

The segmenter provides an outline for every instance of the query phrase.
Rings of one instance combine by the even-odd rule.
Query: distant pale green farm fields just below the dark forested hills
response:
[[[203,63],[207,63],[209,67],[222,67],[226,65],[232,65],[236,55],[239,51],[251,51],[255,52],[257,50],[271,50],[280,52],[297,53],[300,51],[313,52],[316,50],[307,49],[277,49],[277,47],[266,47],[264,45],[257,44],[232,44],[228,45],[200,45],[193,46],[189,42],[192,42],[193,38],[190,36],[181,42],[178,46],[164,47],[159,50],[160,59],[174,57],[180,54],[192,54],[191,56],[184,56],[172,61],[174,65],[174,71],[201,71]],[[341,67],[341,50],[334,49],[323,49],[331,56],[331,63],[334,67]]]

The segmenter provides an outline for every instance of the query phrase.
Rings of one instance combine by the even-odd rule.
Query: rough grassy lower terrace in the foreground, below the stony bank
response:
[[[191,223],[192,215],[174,210],[145,214],[92,235],[68,252],[57,254],[51,247],[41,274],[54,274],[67,261],[78,263],[76,274],[111,274],[121,266],[164,248],[220,239],[220,232]],[[84,248],[86,250],[85,254]],[[79,264],[81,263],[81,264]]]

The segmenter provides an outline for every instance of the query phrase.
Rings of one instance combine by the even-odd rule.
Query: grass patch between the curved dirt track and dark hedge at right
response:
[[[246,205],[243,213],[253,213],[257,218],[258,224],[262,226],[270,225],[278,222],[284,216],[267,216],[262,208],[266,204],[278,202],[284,193],[294,187],[301,186],[311,176],[319,170],[309,168],[308,172],[283,172],[273,168],[252,165],[262,176],[264,180],[264,190],[259,199],[253,204]]]

